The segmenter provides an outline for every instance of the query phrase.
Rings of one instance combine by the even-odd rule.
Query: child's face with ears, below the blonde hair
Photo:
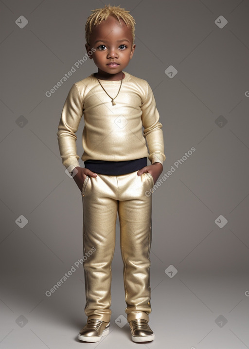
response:
[[[121,18],[120,21],[121,24],[118,19],[108,16],[92,29],[90,45],[86,44],[88,55],[89,51],[95,48],[96,51],[92,52],[89,58],[93,59],[98,67],[99,75],[107,78],[113,75],[118,76],[125,69],[136,46],[132,45],[130,26],[127,26]]]

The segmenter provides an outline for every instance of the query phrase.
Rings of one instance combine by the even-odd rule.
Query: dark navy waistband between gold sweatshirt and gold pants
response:
[[[122,175],[140,170],[147,166],[147,158],[127,160],[127,161],[105,161],[105,160],[86,160],[85,168],[92,172],[105,175]]]

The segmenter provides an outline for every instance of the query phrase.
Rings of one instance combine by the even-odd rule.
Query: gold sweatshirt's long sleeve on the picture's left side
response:
[[[59,144],[62,164],[72,171],[74,167],[80,166],[77,155],[75,132],[83,114],[83,103],[76,83],[74,83],[68,93],[64,103],[61,118],[58,126],[57,139]]]

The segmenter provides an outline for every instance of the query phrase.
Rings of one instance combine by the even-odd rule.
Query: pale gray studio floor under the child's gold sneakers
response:
[[[84,326],[84,278],[80,268],[53,294],[54,276],[32,279],[13,275],[2,284],[0,349],[82,348],[249,348],[249,283],[247,275],[180,275],[157,273],[151,267],[155,340],[133,343],[126,322],[123,276],[113,269],[112,317],[109,334],[98,343],[77,339]],[[21,283],[23,280],[23,283]],[[57,282],[57,281],[56,281]],[[14,287],[16,285],[16,287]],[[47,287],[50,285],[51,287]],[[10,287],[13,286],[13,287]],[[116,322],[115,322],[116,320]],[[118,320],[118,321],[117,321]],[[114,347],[115,346],[115,347]]]

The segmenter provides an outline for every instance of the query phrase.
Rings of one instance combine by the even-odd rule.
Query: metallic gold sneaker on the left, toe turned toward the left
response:
[[[78,338],[85,342],[99,342],[102,336],[109,333],[109,322],[99,319],[88,320],[87,324],[80,330]]]

